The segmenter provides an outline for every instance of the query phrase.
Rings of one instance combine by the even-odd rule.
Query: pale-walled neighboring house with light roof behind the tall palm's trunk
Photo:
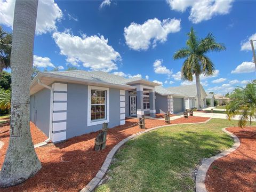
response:
[[[183,85],[178,87],[169,87],[166,90],[173,93],[180,94],[180,95],[185,95],[185,109],[198,108],[196,84]],[[202,108],[206,107],[206,96],[207,94],[204,91],[204,87],[201,85],[201,101],[200,102],[201,102]]]

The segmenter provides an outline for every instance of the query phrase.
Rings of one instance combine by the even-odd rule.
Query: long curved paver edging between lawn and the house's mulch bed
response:
[[[119,143],[117,143],[117,145],[115,145],[115,147],[113,147],[106,159],[105,159],[105,162],[103,163],[103,165],[101,166],[100,168],[100,171],[98,171],[98,173],[96,174],[96,176],[80,191],[80,192],[91,192],[93,191],[93,189],[95,187],[97,187],[97,185],[99,184],[99,182],[101,181],[101,179],[104,177],[104,175],[106,174],[107,170],[108,170],[108,167],[112,161],[112,158],[114,157],[116,151],[122,146],[124,145],[124,143],[126,143],[127,141],[133,139],[134,137],[137,137],[138,135],[142,134],[142,133],[146,133],[146,132],[149,132],[149,131],[152,131],[152,130],[155,130],[155,129],[158,129],[158,128],[161,128],[161,127],[167,127],[167,126],[174,126],[174,125],[187,125],[187,124],[200,124],[200,123],[207,123],[211,120],[211,118],[207,119],[205,122],[198,122],[198,123],[177,123],[177,124],[170,124],[170,125],[162,125],[162,126],[157,126],[157,127],[153,127],[153,128],[150,128],[150,129],[147,129],[145,131],[141,131],[141,132],[138,132],[136,134],[132,134],[130,135],[129,137],[123,139],[122,141],[120,141]]]

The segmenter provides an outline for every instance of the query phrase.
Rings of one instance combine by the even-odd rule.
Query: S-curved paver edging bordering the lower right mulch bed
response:
[[[238,137],[236,137],[236,135],[234,135],[233,133],[230,133],[229,131],[227,131],[228,127],[223,128],[222,131],[224,131],[225,133],[229,134],[231,137],[233,137],[234,139],[234,145],[229,148],[228,150],[223,151],[222,153],[215,155],[213,157],[207,158],[201,166],[199,166],[199,169],[197,171],[197,175],[196,175],[196,192],[207,192],[206,187],[205,187],[205,178],[206,178],[206,173],[210,167],[210,165],[217,159],[224,157],[230,153],[232,153],[233,151],[235,151],[239,146],[240,146],[240,141],[238,139]]]

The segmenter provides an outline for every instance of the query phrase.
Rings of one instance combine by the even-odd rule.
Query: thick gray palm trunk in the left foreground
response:
[[[37,0],[15,3],[11,52],[11,129],[9,147],[1,171],[1,187],[17,185],[41,169],[29,126],[29,85],[37,5]]]

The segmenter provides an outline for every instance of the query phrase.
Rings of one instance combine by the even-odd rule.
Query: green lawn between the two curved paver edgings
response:
[[[233,145],[221,129],[237,121],[163,127],[128,141],[115,155],[108,180],[95,191],[195,191],[193,172],[203,158]]]

